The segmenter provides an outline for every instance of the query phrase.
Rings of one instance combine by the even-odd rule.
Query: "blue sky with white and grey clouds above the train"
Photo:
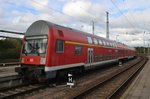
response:
[[[0,29],[25,32],[37,20],[106,37],[130,46],[150,42],[150,0],[0,0]],[[145,32],[145,33],[144,33]]]

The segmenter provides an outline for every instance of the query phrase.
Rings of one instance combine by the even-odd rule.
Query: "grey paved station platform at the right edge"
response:
[[[150,99],[150,57],[121,99]]]

